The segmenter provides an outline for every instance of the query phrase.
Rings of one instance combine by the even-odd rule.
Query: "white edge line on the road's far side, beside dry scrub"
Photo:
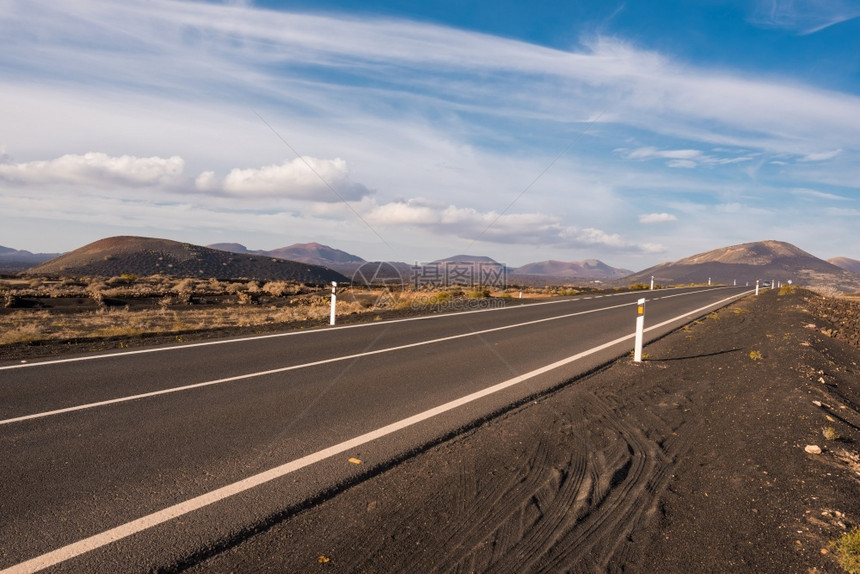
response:
[[[718,287],[717,289],[724,289],[724,287]],[[698,293],[698,291],[694,291],[693,293]],[[630,295],[635,294],[635,292],[624,292],[624,293],[612,293],[610,295],[606,295],[606,297],[618,297],[621,295]],[[690,293],[692,294],[692,293]],[[677,295],[673,295],[673,297],[677,297],[683,295],[683,293],[679,293]],[[597,297],[603,297],[603,295],[598,295]],[[595,297],[595,298],[597,298]],[[244,343],[248,341],[260,341],[263,339],[275,339],[278,337],[296,337],[300,335],[312,335],[315,333],[328,333],[330,331],[340,331],[343,329],[360,329],[360,328],[368,328],[368,327],[379,327],[383,325],[390,325],[392,323],[406,323],[409,321],[427,321],[432,319],[447,319],[451,317],[460,317],[462,315],[471,315],[473,313],[489,313],[492,311],[509,311],[514,309],[523,309],[526,307],[538,307],[542,305],[557,305],[559,303],[570,303],[572,301],[579,301],[582,298],[576,297],[573,299],[559,299],[556,301],[542,301],[540,303],[527,303],[525,305],[511,305],[510,307],[497,307],[497,308],[489,308],[489,309],[474,309],[472,311],[457,311],[455,313],[440,313],[436,315],[422,315],[421,317],[406,317],[404,319],[390,319],[388,321],[376,321],[373,323],[357,323],[354,325],[340,325],[335,327],[326,327],[320,329],[310,329],[307,331],[288,331],[286,333],[272,333],[270,335],[255,335],[253,337],[240,337],[237,339],[219,339],[217,341],[203,341],[200,343],[187,343],[184,345],[171,345],[169,347],[152,347],[149,349],[135,349],[132,351],[120,351],[117,353],[103,353],[99,355],[85,355],[82,357],[70,357],[68,359],[51,359],[47,361],[36,361],[34,363],[18,363],[15,365],[4,365],[0,366],[0,371],[6,371],[11,369],[28,369],[32,367],[44,367],[49,365],[60,365],[65,363],[79,363],[82,361],[95,361],[99,359],[111,359],[117,357],[126,357],[130,355],[143,355],[148,353],[163,353],[165,351],[184,351],[186,349],[194,349],[196,347],[209,347],[212,345],[227,345],[231,343]],[[590,297],[585,297],[585,299],[590,299]]]

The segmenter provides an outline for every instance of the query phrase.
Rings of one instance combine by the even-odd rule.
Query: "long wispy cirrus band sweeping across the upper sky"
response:
[[[581,122],[605,110],[600,121],[794,153],[812,152],[804,142],[828,129],[831,140],[853,142],[860,127],[856,97],[694,69],[614,38],[598,37],[574,52],[390,19],[167,0],[84,4],[85,16],[71,7],[60,14],[38,0],[7,15],[5,58],[57,83],[88,78],[207,101],[278,100],[332,118],[399,108],[406,115],[435,109]],[[34,21],[43,34],[38,52],[16,33]],[[101,39],[95,45],[93,28]],[[168,73],[164,58],[171,60]]]

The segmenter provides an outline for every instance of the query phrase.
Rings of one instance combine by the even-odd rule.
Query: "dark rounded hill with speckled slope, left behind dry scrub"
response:
[[[123,273],[311,284],[346,280],[340,273],[317,265],[257,254],[230,253],[168,239],[131,236],[101,239],[27,270],[27,274],[33,275],[112,277]]]

